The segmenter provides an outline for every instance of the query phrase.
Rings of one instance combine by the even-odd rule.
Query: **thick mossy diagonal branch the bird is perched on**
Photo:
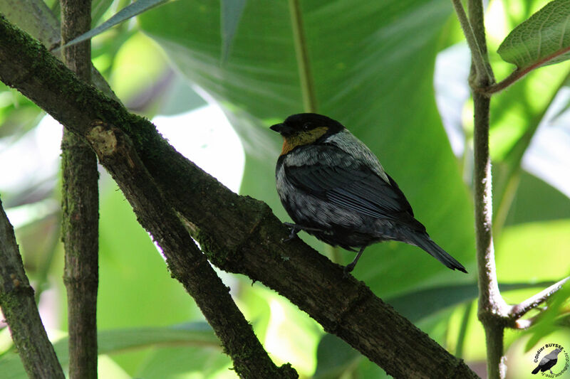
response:
[[[417,329],[363,283],[289,234],[269,207],[237,196],[177,153],[145,119],[78,83],[31,38],[0,18],[0,80],[16,87],[78,134],[102,119],[130,137],[166,200],[191,224],[209,259],[247,274],[290,299],[398,378],[476,378],[462,360]],[[30,61],[30,57],[35,60]]]

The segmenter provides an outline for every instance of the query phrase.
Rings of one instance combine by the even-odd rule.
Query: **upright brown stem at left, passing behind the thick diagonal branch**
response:
[[[61,1],[61,41],[81,36],[91,26],[90,0]],[[91,77],[90,41],[63,50],[63,61],[83,82]],[[66,251],[69,377],[97,378],[97,287],[99,193],[97,158],[81,137],[67,128],[61,141],[62,233]]]

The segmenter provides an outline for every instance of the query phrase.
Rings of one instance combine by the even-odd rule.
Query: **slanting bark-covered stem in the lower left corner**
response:
[[[30,378],[65,378],[43,329],[14,228],[0,202],[0,308]]]

